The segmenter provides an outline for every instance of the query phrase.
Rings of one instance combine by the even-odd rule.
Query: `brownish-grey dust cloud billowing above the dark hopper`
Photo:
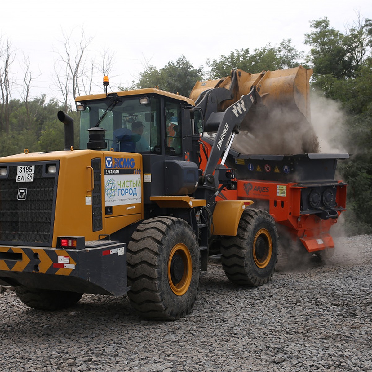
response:
[[[295,105],[251,110],[235,137],[233,150],[273,155],[346,153],[346,113],[341,105],[318,92],[312,91],[310,96],[310,121]]]

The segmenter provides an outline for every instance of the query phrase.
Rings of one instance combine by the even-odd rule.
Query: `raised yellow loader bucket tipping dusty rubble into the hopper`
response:
[[[236,70],[226,78],[198,81],[190,98],[196,100],[210,88],[228,89],[234,98],[221,103],[219,110],[224,111],[256,87],[256,105],[243,120],[232,149],[243,154],[317,153],[318,140],[310,124],[311,74],[302,66],[258,74]]]

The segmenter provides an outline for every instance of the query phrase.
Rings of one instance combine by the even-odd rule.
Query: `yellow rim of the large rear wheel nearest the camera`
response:
[[[171,290],[177,296],[187,292],[191,283],[191,255],[185,244],[177,243],[169,254],[168,281]]]

